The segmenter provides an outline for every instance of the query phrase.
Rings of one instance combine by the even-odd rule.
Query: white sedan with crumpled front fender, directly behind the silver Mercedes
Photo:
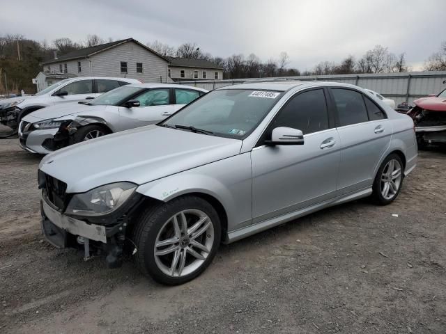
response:
[[[174,84],[132,84],[91,101],[49,106],[22,119],[20,146],[31,153],[47,154],[106,134],[151,125],[206,92]]]

